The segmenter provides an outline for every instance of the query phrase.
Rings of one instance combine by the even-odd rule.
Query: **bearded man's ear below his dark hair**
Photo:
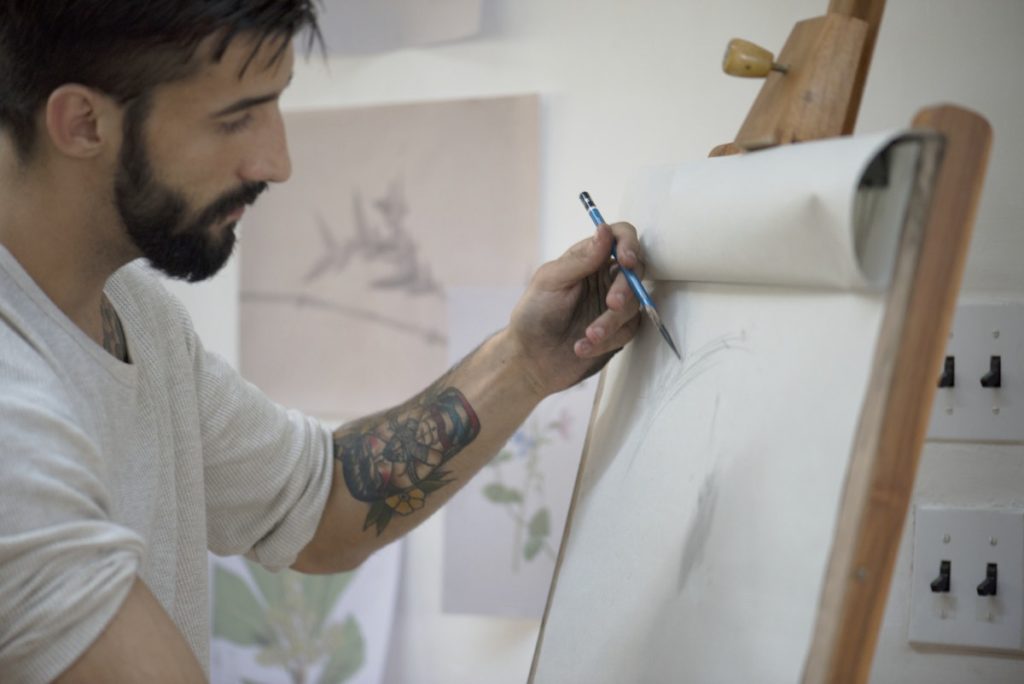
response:
[[[101,155],[117,145],[120,109],[113,99],[93,88],[65,84],[50,93],[46,102],[46,130],[54,147],[78,159]]]

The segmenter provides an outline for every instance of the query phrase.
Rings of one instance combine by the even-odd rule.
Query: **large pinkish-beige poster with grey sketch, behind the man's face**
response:
[[[241,233],[241,370],[285,405],[350,420],[446,370],[452,288],[521,287],[536,268],[538,98],[285,123],[292,179]]]

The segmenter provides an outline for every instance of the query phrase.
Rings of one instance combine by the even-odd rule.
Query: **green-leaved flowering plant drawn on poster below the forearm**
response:
[[[544,471],[541,457],[544,447],[570,437],[571,415],[562,409],[558,418],[545,421],[531,417],[488,464],[494,480],[483,487],[483,496],[503,510],[515,523],[512,542],[512,569],[518,571],[522,560],[532,561],[541,553],[555,559],[551,544],[551,512],[544,495]],[[522,466],[518,486],[506,481],[512,464]]]

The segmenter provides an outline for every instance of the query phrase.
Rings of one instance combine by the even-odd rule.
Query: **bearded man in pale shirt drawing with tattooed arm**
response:
[[[542,266],[424,392],[333,435],[205,352],[130,262],[211,275],[288,179],[278,99],[302,29],[311,0],[0,5],[3,681],[202,681],[207,548],[358,565],[636,330],[617,224]]]

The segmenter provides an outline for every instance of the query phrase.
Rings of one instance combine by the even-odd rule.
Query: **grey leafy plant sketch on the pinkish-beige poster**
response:
[[[316,228],[322,254],[302,279],[310,285],[332,272],[344,272],[353,263],[370,267],[375,273],[369,284],[375,290],[395,290],[411,296],[443,297],[443,289],[434,280],[430,264],[419,256],[419,245],[406,227],[409,205],[401,181],[392,181],[387,194],[372,203],[376,220],[365,206],[362,194],[352,195],[352,219],[355,233],[340,241],[319,214]]]

